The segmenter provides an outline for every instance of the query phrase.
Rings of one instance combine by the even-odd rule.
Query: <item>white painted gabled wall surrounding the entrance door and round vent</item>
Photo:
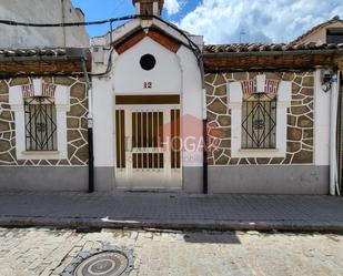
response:
[[[101,41],[99,38],[98,41]],[[152,53],[157,65],[151,71],[140,67],[142,54]],[[104,51],[104,61],[108,51]],[[98,167],[114,167],[114,99],[117,94],[181,94],[182,115],[202,120],[202,81],[196,59],[191,50],[181,47],[176,53],[145,38],[127,52],[113,52],[113,68],[105,78],[92,78],[94,164]],[[93,62],[93,72],[104,71],[107,63]],[[143,82],[152,82],[144,89]],[[184,130],[189,125],[183,125]],[[199,130],[199,133],[202,129]],[[202,152],[184,151],[183,166],[202,166]]]

